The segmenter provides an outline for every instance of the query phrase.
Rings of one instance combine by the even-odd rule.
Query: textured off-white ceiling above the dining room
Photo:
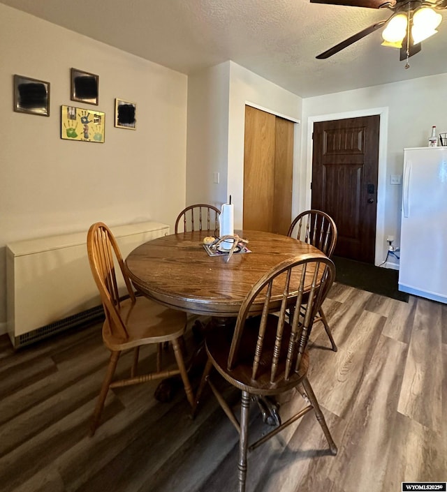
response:
[[[302,97],[447,71],[447,20],[410,59],[381,46],[381,30],[316,60],[390,10],[309,0],[0,0],[182,73],[226,60]]]

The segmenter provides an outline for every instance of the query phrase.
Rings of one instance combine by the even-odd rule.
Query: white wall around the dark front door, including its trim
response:
[[[403,70],[404,68],[402,68]],[[411,68],[410,68],[411,70]],[[313,121],[350,117],[351,114],[377,114],[386,118],[386,134],[381,126],[383,156],[379,163],[379,202],[376,244],[376,264],[386,258],[386,236],[395,236],[400,244],[400,212],[402,186],[390,184],[390,176],[402,175],[404,147],[425,147],[432,125],[438,132],[447,131],[447,98],[442,94],[447,85],[447,73],[394,82],[366,89],[327,94],[303,101],[302,137],[309,142]],[[374,109],[376,108],[376,109]],[[382,122],[383,123],[383,122]],[[300,184],[305,207],[310,204],[309,183],[312,178],[312,145],[302,147],[302,166],[306,179]],[[389,265],[393,266],[393,265]]]

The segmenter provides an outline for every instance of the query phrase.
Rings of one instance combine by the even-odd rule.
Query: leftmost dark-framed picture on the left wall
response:
[[[50,82],[14,75],[14,111],[50,116]]]

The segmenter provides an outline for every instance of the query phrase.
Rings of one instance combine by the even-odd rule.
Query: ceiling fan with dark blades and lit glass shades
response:
[[[393,10],[393,14],[388,19],[362,29],[329,50],[318,54],[317,59],[332,57],[333,54],[344,50],[368,34],[385,27],[382,33],[382,45],[400,48],[400,60],[406,59],[405,68],[409,68],[409,57],[420,52],[420,42],[437,33],[436,28],[442,16],[435,10],[447,8],[447,0],[433,2],[426,0],[310,0],[310,2]]]

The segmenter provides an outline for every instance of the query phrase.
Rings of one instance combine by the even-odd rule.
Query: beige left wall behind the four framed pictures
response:
[[[187,77],[0,4],[0,332],[5,244],[155,220],[185,204]],[[70,68],[99,75],[99,105],[70,100]],[[50,82],[50,117],[13,112],[13,74]],[[114,127],[115,98],[137,105]],[[60,106],[105,112],[105,142],[61,140]],[[67,285],[67,288],[69,286]]]

